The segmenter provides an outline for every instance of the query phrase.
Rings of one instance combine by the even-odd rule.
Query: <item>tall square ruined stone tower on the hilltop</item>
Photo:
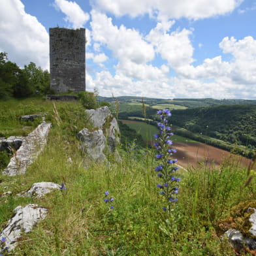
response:
[[[50,86],[57,93],[86,90],[86,29],[50,28]]]

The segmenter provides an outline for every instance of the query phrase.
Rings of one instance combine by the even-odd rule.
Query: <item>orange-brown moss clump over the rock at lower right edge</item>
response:
[[[256,209],[256,200],[252,199],[246,202],[240,202],[240,204],[232,207],[230,216],[216,223],[217,231],[223,234],[223,232],[229,229],[236,229],[247,237],[255,238],[255,236],[249,232],[251,228],[249,217],[253,214],[253,210],[248,210],[248,208]]]

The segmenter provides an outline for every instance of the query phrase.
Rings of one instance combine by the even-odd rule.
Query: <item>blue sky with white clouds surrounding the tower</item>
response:
[[[49,69],[49,27],[85,27],[88,91],[256,99],[255,21],[255,0],[1,0],[0,51]]]

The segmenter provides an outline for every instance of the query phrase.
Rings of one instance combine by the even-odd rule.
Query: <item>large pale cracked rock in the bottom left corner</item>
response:
[[[0,234],[0,239],[5,238],[1,243],[1,251],[11,251],[17,245],[17,240],[22,232],[30,232],[33,226],[46,217],[47,209],[37,204],[27,204],[14,209],[15,215],[8,221],[7,226]]]

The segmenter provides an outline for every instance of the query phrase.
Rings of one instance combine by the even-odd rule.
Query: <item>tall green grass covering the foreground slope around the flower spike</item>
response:
[[[90,163],[75,138],[88,125],[82,108],[59,103],[55,114],[49,111],[52,130],[44,152],[26,174],[0,177],[0,193],[4,187],[12,191],[0,197],[1,227],[18,205],[37,203],[48,209],[46,219],[24,234],[9,255],[235,255],[227,240],[218,237],[218,221],[229,217],[232,206],[255,199],[255,180],[244,186],[246,170],[226,161],[221,170],[202,166],[178,174],[179,201],[167,216],[156,186],[161,180],[154,171],[155,152],[132,159],[133,152],[121,151],[120,163]],[[67,190],[40,199],[15,196],[42,181],[65,182]],[[114,197],[113,210],[103,201],[104,191]]]

